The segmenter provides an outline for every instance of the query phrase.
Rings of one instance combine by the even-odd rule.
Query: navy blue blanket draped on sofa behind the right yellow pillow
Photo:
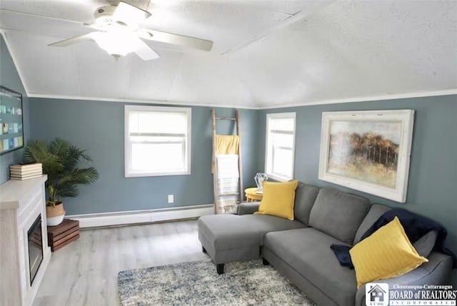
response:
[[[391,222],[395,217],[398,217],[398,220],[400,220],[400,223],[403,226],[405,233],[411,243],[415,243],[419,238],[421,238],[429,231],[436,230],[438,232],[438,236],[436,238],[436,243],[433,247],[433,250],[445,253],[453,257],[453,268],[455,269],[457,267],[456,255],[454,255],[451,250],[446,248],[445,245],[446,236],[448,235],[446,228],[444,228],[443,225],[437,223],[436,221],[421,215],[416,215],[415,213],[411,213],[410,211],[402,208],[388,210],[386,213],[383,213],[383,215],[381,215],[381,217],[379,217],[378,220],[376,220],[376,222],[371,225],[371,228],[368,228],[368,230],[362,235],[361,240],[376,232],[378,228],[381,228],[382,226]],[[330,248],[333,250],[333,253],[335,253],[336,258],[340,262],[340,265],[349,267],[351,269],[354,268],[351,261],[351,255],[349,254],[351,247],[347,245],[331,245]]]

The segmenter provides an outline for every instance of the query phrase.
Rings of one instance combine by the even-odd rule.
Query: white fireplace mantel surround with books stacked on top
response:
[[[32,305],[51,258],[46,230],[46,179],[43,175],[0,185],[0,305]],[[40,214],[43,261],[30,285],[27,231]]]

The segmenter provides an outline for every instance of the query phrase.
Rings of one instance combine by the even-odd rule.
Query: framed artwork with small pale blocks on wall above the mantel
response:
[[[22,148],[22,95],[0,86],[0,155]]]

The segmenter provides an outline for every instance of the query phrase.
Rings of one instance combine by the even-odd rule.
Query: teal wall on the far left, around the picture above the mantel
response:
[[[24,143],[29,139],[29,99],[22,85],[21,78],[14,66],[13,59],[6,47],[3,36],[0,35],[0,85],[22,93],[22,110],[24,121]],[[24,150],[19,149],[0,155],[0,184],[9,180],[9,165],[23,161]]]

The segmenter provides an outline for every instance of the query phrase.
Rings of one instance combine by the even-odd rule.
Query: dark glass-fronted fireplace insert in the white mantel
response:
[[[43,239],[41,238],[41,214],[36,218],[27,232],[29,238],[29,271],[30,285],[34,282],[36,272],[43,261]]]

